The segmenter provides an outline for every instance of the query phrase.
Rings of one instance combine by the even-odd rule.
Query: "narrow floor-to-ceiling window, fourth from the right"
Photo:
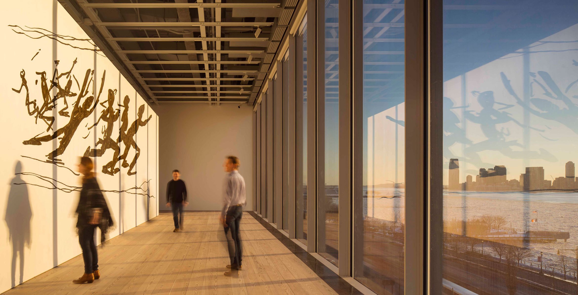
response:
[[[307,243],[307,17],[297,37],[297,210],[296,236]]]

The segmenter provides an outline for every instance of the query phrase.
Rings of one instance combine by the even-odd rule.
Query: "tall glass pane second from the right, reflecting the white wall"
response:
[[[404,4],[363,5],[363,195],[354,196],[363,199],[363,225],[355,229],[362,230],[362,253],[354,277],[377,294],[403,294]]]

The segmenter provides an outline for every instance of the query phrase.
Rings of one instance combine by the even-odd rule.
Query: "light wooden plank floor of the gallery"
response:
[[[336,294],[247,212],[243,270],[225,277],[227,244],[218,212],[186,212],[173,233],[172,214],[113,238],[99,249],[101,279],[76,285],[79,255],[3,294]]]

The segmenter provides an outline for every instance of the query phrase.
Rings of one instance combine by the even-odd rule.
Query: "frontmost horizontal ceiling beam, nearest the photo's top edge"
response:
[[[87,8],[277,8],[279,3],[79,3]]]

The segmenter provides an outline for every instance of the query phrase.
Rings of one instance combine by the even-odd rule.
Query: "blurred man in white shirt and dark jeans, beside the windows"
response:
[[[242,265],[241,237],[239,235],[239,226],[243,216],[243,206],[247,203],[245,196],[245,180],[239,174],[239,158],[236,156],[227,156],[223,167],[227,172],[224,181],[225,192],[223,194],[223,210],[221,211],[221,223],[225,229],[225,236],[228,231],[231,232],[231,238],[227,236],[227,246],[231,264],[227,268],[231,271],[238,271]],[[231,271],[225,272],[226,276],[231,276]]]

